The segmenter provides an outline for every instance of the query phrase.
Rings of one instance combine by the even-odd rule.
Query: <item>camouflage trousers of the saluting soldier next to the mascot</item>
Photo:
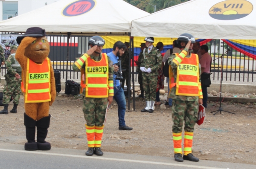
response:
[[[87,126],[103,126],[108,105],[108,98],[88,98],[83,99],[84,119]]]

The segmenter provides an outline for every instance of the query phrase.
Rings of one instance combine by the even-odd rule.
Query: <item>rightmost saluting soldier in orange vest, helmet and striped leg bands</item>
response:
[[[200,82],[201,66],[198,55],[191,54],[195,38],[191,34],[181,34],[177,39],[180,54],[172,54],[167,63],[172,98],[172,134],[174,143],[174,157],[176,161],[199,161],[192,155],[194,126],[197,122],[199,104],[202,104],[202,90]],[[189,59],[187,59],[189,58]],[[172,82],[172,83],[171,83]],[[182,127],[185,121],[184,155],[182,157]]]

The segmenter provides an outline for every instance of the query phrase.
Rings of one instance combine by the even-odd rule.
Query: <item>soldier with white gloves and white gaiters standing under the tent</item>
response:
[[[143,62],[140,70],[143,76],[143,89],[145,91],[146,106],[141,112],[154,112],[156,100],[158,69],[162,65],[162,54],[153,46],[154,37],[146,37],[146,48],[143,50]]]

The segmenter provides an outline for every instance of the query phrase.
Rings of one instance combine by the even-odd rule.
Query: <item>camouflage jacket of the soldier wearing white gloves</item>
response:
[[[151,73],[142,72],[143,76],[155,76],[158,75],[158,69],[162,66],[162,54],[153,47],[151,51],[148,53],[148,48],[145,48],[143,52],[145,51],[145,56],[142,56],[142,63],[140,64],[140,67],[145,67],[151,69]]]

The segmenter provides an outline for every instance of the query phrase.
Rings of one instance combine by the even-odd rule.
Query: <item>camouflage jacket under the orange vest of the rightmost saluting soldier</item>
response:
[[[187,53],[188,49],[185,48],[185,49],[183,49],[183,51],[185,51]],[[191,54],[189,54],[189,57],[190,57],[190,55]],[[169,65],[172,66],[172,73],[174,75],[174,82],[176,83],[178,65],[175,62],[173,62],[173,59],[175,57],[176,57],[175,54],[171,54],[171,56],[169,57],[167,62],[168,62]],[[188,57],[188,56],[186,56],[186,57]],[[200,78],[201,78],[201,65],[199,63],[199,81],[201,82]],[[175,99],[175,100],[183,100],[183,101],[198,101],[198,96],[180,96],[180,95],[176,95],[176,86],[172,87],[172,90],[169,94],[169,98],[172,98],[172,99]]]

